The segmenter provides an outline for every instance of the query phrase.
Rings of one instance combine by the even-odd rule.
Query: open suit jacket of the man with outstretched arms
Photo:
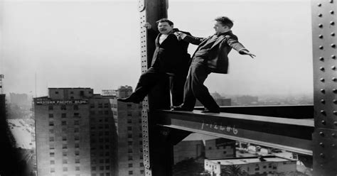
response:
[[[210,38],[212,38],[212,36],[208,38],[196,38],[191,35],[186,35],[183,40],[194,45],[199,45],[196,50],[196,52],[198,52],[200,46],[205,44]],[[239,53],[240,50],[245,49],[245,47],[239,43],[237,36],[234,35],[232,31],[222,33],[208,51],[208,57],[206,58],[208,68],[210,68],[211,72],[228,73],[228,53],[230,53],[232,48],[237,50]],[[192,56],[193,60],[195,59],[195,54],[196,53]]]

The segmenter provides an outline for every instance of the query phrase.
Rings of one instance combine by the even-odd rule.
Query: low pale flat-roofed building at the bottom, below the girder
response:
[[[222,173],[225,173],[225,170],[228,170],[226,167],[240,167],[240,170],[247,172],[248,175],[296,175],[296,160],[274,155],[205,160],[205,170],[208,170],[211,175],[220,176]]]

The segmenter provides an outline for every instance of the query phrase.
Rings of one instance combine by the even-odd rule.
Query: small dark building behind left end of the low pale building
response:
[[[215,138],[205,141],[205,158],[235,158],[235,141],[227,138]]]

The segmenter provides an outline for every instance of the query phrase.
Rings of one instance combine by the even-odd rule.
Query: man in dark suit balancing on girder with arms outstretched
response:
[[[233,26],[230,18],[221,16],[215,18],[215,35],[208,38],[196,38],[191,35],[177,32],[179,38],[198,45],[196,52],[192,56],[192,63],[184,87],[183,104],[175,106],[174,111],[193,111],[198,99],[205,106],[204,113],[220,113],[220,107],[210,96],[207,87],[203,84],[211,72],[228,73],[228,53],[235,49],[241,55],[250,53],[239,41],[237,36],[231,31]]]

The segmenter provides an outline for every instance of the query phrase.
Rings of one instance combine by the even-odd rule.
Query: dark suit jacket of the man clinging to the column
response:
[[[151,61],[151,67],[158,69],[161,72],[169,72],[176,74],[181,70],[183,65],[183,48],[178,38],[173,33],[170,33],[167,38],[159,44],[159,37],[155,40],[156,50]],[[186,49],[187,51],[187,49]]]

